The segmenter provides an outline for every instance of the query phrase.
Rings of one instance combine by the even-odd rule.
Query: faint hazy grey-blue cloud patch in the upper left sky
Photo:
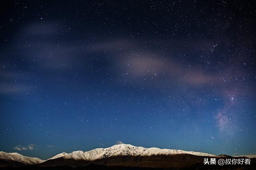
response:
[[[20,47],[14,49],[12,46],[6,47],[3,51],[2,63],[7,63],[9,57],[16,53],[22,53],[24,55],[23,62],[26,65],[32,64],[33,68],[40,70],[62,71],[70,68],[73,64],[77,65],[80,55],[84,54],[85,49],[82,44],[56,42],[61,36],[60,33],[67,31],[64,25],[58,21],[33,23],[25,25],[23,29],[25,31],[13,42],[13,44],[21,44]],[[41,43],[36,43],[38,41]],[[33,62],[31,63],[31,61]]]

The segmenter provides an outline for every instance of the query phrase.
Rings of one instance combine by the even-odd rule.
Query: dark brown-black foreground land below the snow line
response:
[[[152,155],[152,156],[110,156],[93,161],[65,159],[63,157],[28,165],[0,159],[0,170],[256,170],[256,158],[250,158],[250,165],[204,165],[204,158],[192,154]],[[218,159],[245,159],[219,155]]]

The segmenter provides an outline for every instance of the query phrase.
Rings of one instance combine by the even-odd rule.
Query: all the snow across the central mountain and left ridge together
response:
[[[193,152],[193,151],[184,151],[184,150],[174,150],[174,149],[159,149],[159,148],[144,148],[144,147],[135,147],[129,144],[120,144],[114,145],[109,148],[97,148],[87,152],[82,150],[74,151],[71,153],[62,152],[49,158],[48,160],[56,158],[64,159],[74,159],[74,160],[86,160],[92,161],[96,159],[108,158],[110,156],[151,156],[151,155],[172,155],[172,154],[193,154],[197,156],[212,156],[217,157],[214,154],[208,154],[203,152]],[[22,164],[39,164],[45,160],[39,158],[31,158],[28,156],[23,156],[19,153],[6,153],[0,152],[0,159],[10,160],[20,162]]]

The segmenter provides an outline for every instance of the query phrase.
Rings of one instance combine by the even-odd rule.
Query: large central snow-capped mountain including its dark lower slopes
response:
[[[198,156],[217,157],[214,154],[208,154],[203,152],[193,152],[184,150],[173,149],[159,149],[159,148],[144,148],[135,147],[129,144],[114,145],[109,148],[98,148],[87,152],[81,150],[67,153],[57,154],[56,156],[40,163],[41,166],[82,166],[88,163],[120,163],[120,162],[140,162],[140,160],[153,159],[166,159],[172,158],[175,155],[180,155],[180,159],[190,158],[190,155],[194,155],[194,158]],[[176,156],[177,157],[177,156]],[[111,160],[111,161],[106,161]]]

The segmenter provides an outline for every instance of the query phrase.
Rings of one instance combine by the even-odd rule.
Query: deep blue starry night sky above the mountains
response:
[[[250,1],[8,1],[0,150],[256,154]]]

